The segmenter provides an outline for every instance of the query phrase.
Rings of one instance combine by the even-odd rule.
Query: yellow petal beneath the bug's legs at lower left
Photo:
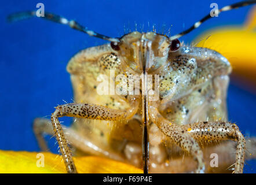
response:
[[[43,152],[45,166],[36,166],[38,152],[0,150],[0,173],[66,173],[60,155]],[[142,173],[132,165],[103,157],[74,157],[79,173]]]

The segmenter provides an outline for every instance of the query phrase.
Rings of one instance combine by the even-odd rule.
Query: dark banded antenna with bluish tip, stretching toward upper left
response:
[[[10,16],[8,16],[8,21],[10,21],[10,22],[20,21],[20,20],[24,20],[27,18],[35,17],[35,16],[36,16],[36,11],[14,13],[14,14],[10,14]],[[77,23],[74,20],[67,20],[67,18],[58,16],[56,14],[45,12],[45,16],[41,17],[41,18],[45,18],[46,20],[53,21],[55,23],[69,25],[71,28],[76,29],[81,32],[84,32],[90,36],[95,36],[97,38],[108,40],[110,42],[120,42],[120,40],[118,38],[110,38],[109,36],[98,34],[92,30],[89,30],[89,29],[83,27],[81,24]]]

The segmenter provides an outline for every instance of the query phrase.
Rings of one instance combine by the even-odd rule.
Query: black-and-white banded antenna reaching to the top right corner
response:
[[[251,1],[242,1],[242,2],[237,2],[234,3],[233,5],[229,6],[224,6],[222,9],[216,10],[218,14],[221,12],[226,12],[232,9],[240,8],[243,6],[248,6],[256,3],[256,0],[251,0]],[[193,31],[193,29],[198,28],[204,21],[209,20],[211,17],[211,14],[209,13],[207,16],[203,17],[200,21],[196,22],[195,24],[192,25],[192,27],[186,29],[185,31],[182,31],[180,34],[174,35],[170,37],[170,40],[178,39],[183,35],[188,34],[189,32]]]

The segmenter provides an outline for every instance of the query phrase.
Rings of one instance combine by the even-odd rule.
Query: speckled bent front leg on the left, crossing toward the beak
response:
[[[138,101],[136,98],[131,98],[131,109],[115,110],[109,109],[105,106],[87,104],[87,103],[68,103],[57,106],[55,112],[52,114],[51,120],[53,124],[53,131],[58,145],[60,147],[61,155],[63,156],[65,166],[68,173],[76,173],[74,161],[72,160],[71,150],[67,145],[67,140],[64,136],[63,128],[58,121],[58,117],[69,116],[79,117],[94,120],[125,120],[130,119],[136,113],[138,108]]]

